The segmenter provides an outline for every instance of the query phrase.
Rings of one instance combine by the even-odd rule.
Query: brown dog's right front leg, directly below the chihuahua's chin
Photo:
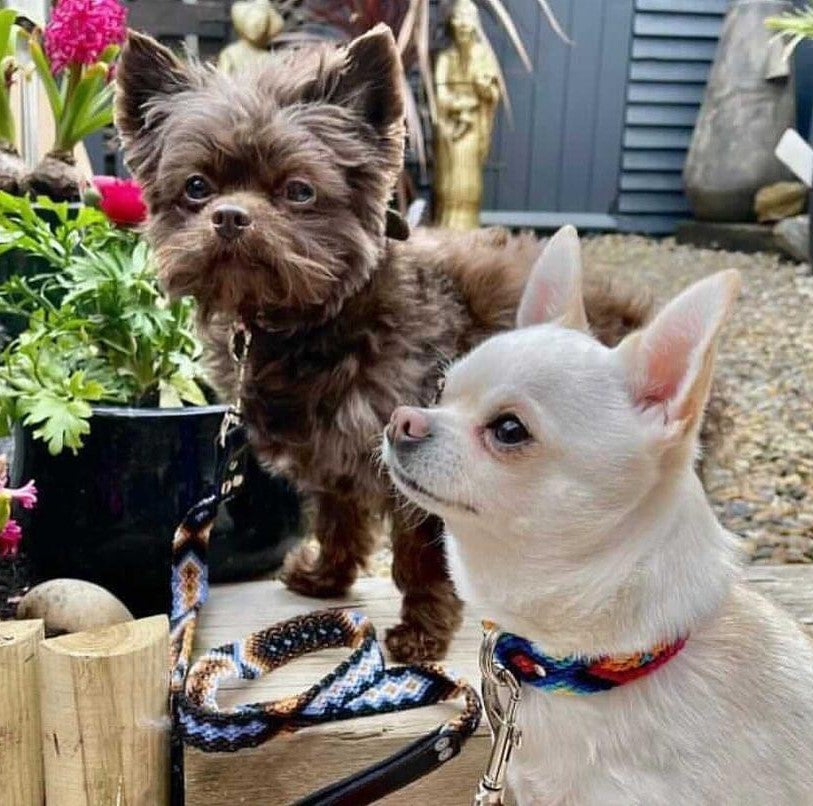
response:
[[[449,579],[442,535],[443,524],[433,515],[417,524],[394,516],[392,576],[404,599],[401,623],[386,640],[402,663],[439,660],[460,626],[463,605]]]

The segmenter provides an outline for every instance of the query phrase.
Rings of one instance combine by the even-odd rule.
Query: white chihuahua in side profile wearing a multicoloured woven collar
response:
[[[513,634],[522,804],[813,804],[813,644],[739,581],[692,469],[739,285],[709,277],[608,349],[567,227],[518,329],[387,429],[395,484],[445,520],[460,595]]]

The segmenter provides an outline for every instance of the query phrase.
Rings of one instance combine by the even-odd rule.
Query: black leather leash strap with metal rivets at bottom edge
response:
[[[441,727],[375,766],[330,784],[294,806],[367,806],[429,775],[462,749],[460,734]]]

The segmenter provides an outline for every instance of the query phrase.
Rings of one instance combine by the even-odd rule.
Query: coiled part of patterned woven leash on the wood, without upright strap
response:
[[[251,680],[307,652],[340,646],[351,649],[349,657],[299,695],[229,710],[217,705],[218,688],[226,680]],[[479,699],[468,684],[430,664],[386,668],[366,618],[352,610],[322,610],[205,653],[189,670],[184,691],[176,698],[176,713],[188,744],[233,751],[309,725],[461,696],[464,710],[446,727],[468,736],[480,719]]]

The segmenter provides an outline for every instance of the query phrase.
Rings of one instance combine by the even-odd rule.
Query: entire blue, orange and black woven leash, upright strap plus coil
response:
[[[220,456],[218,466],[227,467]],[[215,490],[224,489],[219,479]],[[176,728],[202,750],[234,751],[280,733],[337,719],[381,714],[462,697],[461,713],[442,731],[461,742],[480,721],[480,700],[464,680],[432,664],[386,668],[367,618],[347,609],[298,616],[225,644],[190,668],[195,625],[208,596],[209,535],[221,502],[218,492],[187,513],[172,544],[170,619],[171,690]],[[221,710],[217,692],[226,680],[253,680],[294,658],[330,647],[346,647],[347,659],[307,691],[284,700]]]

